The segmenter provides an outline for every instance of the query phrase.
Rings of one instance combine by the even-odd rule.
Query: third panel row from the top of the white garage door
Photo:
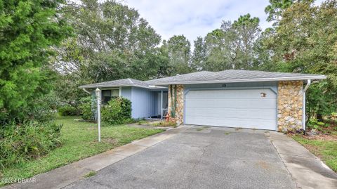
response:
[[[212,108],[203,107],[197,110],[191,108],[189,116],[193,117],[227,117],[227,118],[251,118],[251,119],[263,119],[264,117],[276,117],[275,109],[236,109],[236,108]]]

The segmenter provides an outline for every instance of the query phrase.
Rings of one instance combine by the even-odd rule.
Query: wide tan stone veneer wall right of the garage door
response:
[[[278,131],[302,129],[303,81],[279,82],[277,91]]]

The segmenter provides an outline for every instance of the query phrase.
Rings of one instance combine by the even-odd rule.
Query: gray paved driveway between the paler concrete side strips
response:
[[[194,126],[67,188],[295,188],[265,132]]]

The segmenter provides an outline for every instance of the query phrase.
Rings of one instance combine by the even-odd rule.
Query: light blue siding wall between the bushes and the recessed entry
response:
[[[156,92],[133,86],[131,91],[131,102],[133,118],[137,119],[156,115]]]

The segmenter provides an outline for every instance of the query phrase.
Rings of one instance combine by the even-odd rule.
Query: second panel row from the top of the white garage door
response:
[[[276,103],[276,99],[188,99],[186,107],[237,107],[237,108],[274,108],[271,103]]]

